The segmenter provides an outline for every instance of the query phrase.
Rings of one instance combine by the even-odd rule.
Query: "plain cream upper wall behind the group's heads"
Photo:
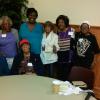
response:
[[[88,20],[93,26],[100,26],[100,0],[29,0],[29,7],[38,10],[38,21],[56,21],[58,15],[65,14],[71,24],[81,24]]]

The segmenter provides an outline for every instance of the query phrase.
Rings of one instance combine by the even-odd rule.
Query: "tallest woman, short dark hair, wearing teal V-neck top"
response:
[[[31,45],[31,52],[39,56],[41,52],[43,26],[36,22],[37,17],[37,10],[35,8],[28,8],[28,21],[20,26],[19,37],[20,39],[27,39]]]

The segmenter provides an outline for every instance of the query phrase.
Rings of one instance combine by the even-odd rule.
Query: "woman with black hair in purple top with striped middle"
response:
[[[56,19],[58,28],[58,79],[67,80],[70,72],[73,59],[73,38],[74,29],[69,25],[69,18],[65,15],[60,15]]]

